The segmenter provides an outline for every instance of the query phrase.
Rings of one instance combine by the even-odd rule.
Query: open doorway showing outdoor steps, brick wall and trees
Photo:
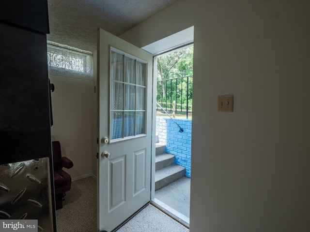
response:
[[[186,227],[190,217],[193,34],[191,27],[142,47],[154,55],[151,203]]]

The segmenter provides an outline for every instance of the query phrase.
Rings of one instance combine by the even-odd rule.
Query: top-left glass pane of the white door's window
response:
[[[111,51],[110,78],[116,81],[124,81],[124,55]]]

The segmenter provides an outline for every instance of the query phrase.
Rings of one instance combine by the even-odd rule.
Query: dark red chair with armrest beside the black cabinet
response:
[[[52,142],[52,149],[56,209],[61,209],[65,192],[69,191],[71,188],[71,176],[63,171],[62,168],[72,168],[73,162],[67,157],[62,157],[62,150],[59,141]]]

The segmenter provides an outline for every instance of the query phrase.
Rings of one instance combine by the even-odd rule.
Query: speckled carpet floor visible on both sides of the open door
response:
[[[58,232],[96,232],[96,180],[87,177],[72,182],[62,209],[56,211]],[[116,232],[189,232],[189,230],[149,204]]]

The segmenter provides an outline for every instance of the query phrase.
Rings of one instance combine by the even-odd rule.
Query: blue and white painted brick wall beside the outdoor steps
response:
[[[192,121],[187,119],[174,119],[184,130],[171,120],[171,118],[156,117],[156,134],[159,143],[166,144],[166,152],[175,155],[174,162],[185,167],[185,174],[190,177],[191,171],[191,140]]]

